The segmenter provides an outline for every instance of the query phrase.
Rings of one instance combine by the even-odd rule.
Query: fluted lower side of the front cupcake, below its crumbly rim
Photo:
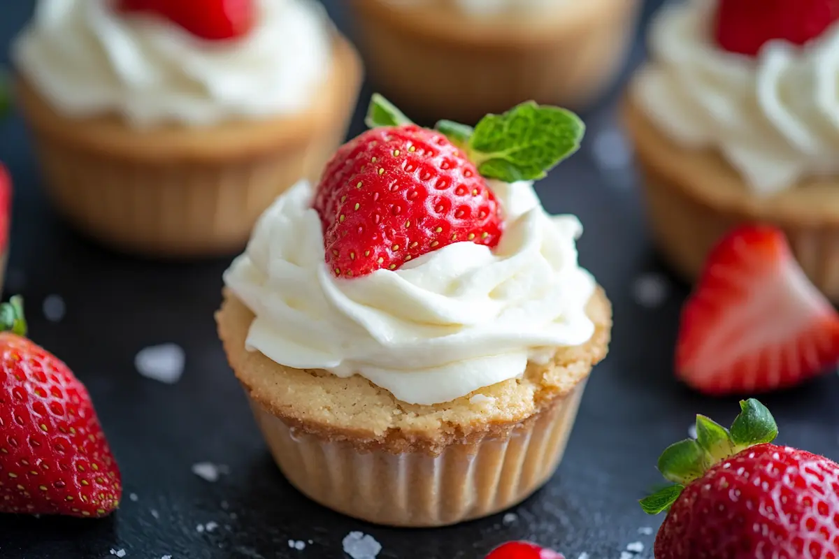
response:
[[[508,436],[453,443],[438,455],[360,450],[289,427],[253,398],[251,406],[279,468],[310,499],[375,524],[426,527],[492,515],[545,484],[565,452],[585,384]]]

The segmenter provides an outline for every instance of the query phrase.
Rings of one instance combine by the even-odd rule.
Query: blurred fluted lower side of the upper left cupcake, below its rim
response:
[[[40,137],[45,186],[61,214],[117,249],[152,256],[237,251],[265,208],[300,179],[316,182],[343,136],[280,148],[262,158],[154,164],[97,153]]]

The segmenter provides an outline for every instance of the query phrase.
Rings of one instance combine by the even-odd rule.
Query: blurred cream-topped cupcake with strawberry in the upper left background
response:
[[[317,179],[361,77],[309,0],[39,0],[12,54],[57,210],[150,256],[240,250]]]

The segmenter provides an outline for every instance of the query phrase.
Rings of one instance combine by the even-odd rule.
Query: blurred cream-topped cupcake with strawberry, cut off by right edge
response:
[[[734,225],[769,223],[839,301],[836,18],[833,0],[691,0],[654,19],[623,116],[654,239],[686,278]]]

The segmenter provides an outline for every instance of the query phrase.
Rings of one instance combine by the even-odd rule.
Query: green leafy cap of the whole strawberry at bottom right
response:
[[[639,501],[649,515],[670,509],[685,485],[701,478],[709,468],[756,444],[771,443],[778,436],[774,417],[754,398],[740,401],[740,414],[731,429],[705,416],[696,416],[696,440],[671,444],[659,457],[659,472],[673,485]]]

